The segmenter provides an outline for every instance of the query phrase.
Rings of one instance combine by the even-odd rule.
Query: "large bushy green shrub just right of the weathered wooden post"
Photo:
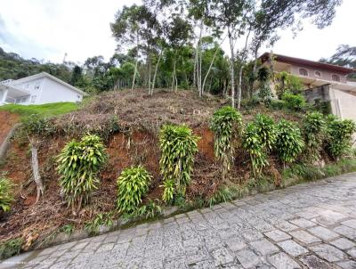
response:
[[[87,204],[98,188],[98,173],[107,160],[105,147],[98,135],[85,135],[80,142],[69,142],[58,156],[60,185],[73,213]]]

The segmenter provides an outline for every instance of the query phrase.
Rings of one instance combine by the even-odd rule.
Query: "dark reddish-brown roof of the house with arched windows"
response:
[[[275,53],[263,53],[260,56],[260,59],[261,59],[261,61],[267,61],[271,55],[273,55],[273,57],[275,58],[276,61],[291,63],[291,64],[298,64],[298,65],[303,65],[303,66],[310,66],[310,67],[314,67],[317,69],[323,69],[323,70],[329,70],[329,71],[343,73],[344,75],[348,75],[348,74],[356,72],[356,69],[349,69],[349,68],[345,68],[345,67],[335,65],[335,64],[330,64],[330,63],[320,62],[320,61],[310,61],[310,60],[305,60],[305,59],[301,59],[301,58],[295,58],[295,57],[275,54]]]

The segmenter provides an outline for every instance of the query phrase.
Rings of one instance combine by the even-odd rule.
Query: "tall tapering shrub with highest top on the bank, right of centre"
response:
[[[234,159],[236,138],[242,125],[241,114],[226,106],[214,112],[210,128],[214,132],[214,154],[223,162],[223,176],[231,170]]]

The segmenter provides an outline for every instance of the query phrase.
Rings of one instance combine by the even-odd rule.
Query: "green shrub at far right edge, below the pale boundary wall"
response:
[[[340,119],[334,115],[327,118],[327,151],[337,159],[351,149],[352,134],[356,132],[355,123],[350,119]]]

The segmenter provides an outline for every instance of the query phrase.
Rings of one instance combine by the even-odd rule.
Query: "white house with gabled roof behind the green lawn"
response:
[[[85,95],[75,86],[45,72],[17,80],[0,81],[0,105],[81,102]]]

